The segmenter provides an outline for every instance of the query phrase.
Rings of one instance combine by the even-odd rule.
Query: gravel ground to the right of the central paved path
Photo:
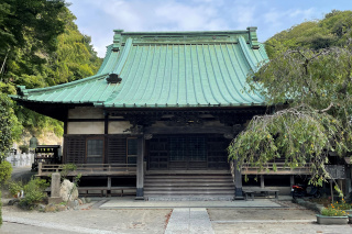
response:
[[[316,213],[290,201],[278,209],[208,209],[216,234],[352,234],[352,225],[319,225]]]

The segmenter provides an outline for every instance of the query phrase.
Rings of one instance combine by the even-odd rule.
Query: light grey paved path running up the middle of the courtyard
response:
[[[165,234],[215,234],[207,209],[176,208],[174,209]]]

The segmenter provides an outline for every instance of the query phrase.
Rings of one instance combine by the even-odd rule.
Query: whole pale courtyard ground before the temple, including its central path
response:
[[[0,233],[326,233],[352,234],[349,225],[318,225],[315,212],[290,201],[135,201],[95,199],[56,213],[2,209]]]

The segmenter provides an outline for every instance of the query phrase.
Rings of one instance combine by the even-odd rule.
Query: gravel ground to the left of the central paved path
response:
[[[56,213],[42,213],[37,211],[21,211],[15,207],[6,205],[2,209],[4,221],[19,220],[22,223],[34,224],[40,227],[62,230],[73,233],[164,233],[170,209],[162,210],[70,210]],[[21,220],[22,219],[22,220]],[[24,221],[24,222],[23,222]],[[32,222],[31,222],[32,221]],[[10,222],[4,222],[1,232],[23,233]],[[42,223],[41,223],[42,222]],[[8,225],[9,224],[9,225]],[[35,231],[36,229],[34,229]],[[29,231],[29,230],[28,230]],[[97,232],[96,232],[97,231]],[[110,231],[110,232],[109,232]],[[47,231],[51,232],[51,231]],[[46,233],[47,233],[46,232]],[[37,233],[29,231],[28,233]],[[44,232],[45,233],[45,232]],[[51,232],[52,233],[52,232]],[[63,233],[63,232],[62,232]]]

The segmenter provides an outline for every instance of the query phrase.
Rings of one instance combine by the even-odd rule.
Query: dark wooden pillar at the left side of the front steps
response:
[[[136,200],[144,200],[144,137],[138,137],[138,156],[136,156]]]

